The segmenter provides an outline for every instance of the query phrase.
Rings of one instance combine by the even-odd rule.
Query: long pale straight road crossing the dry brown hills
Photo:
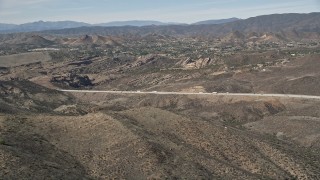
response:
[[[65,90],[62,92],[72,93],[109,93],[109,94],[159,94],[159,95],[213,95],[213,96],[254,96],[254,97],[284,97],[301,99],[319,99],[320,96],[294,95],[294,94],[252,94],[252,93],[188,93],[188,92],[158,92],[158,91],[97,91],[97,90]]]

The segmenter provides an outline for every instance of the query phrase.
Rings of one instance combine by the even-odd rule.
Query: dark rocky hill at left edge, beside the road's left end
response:
[[[72,97],[30,81],[11,80],[0,84],[1,113],[52,113],[62,105],[74,103]]]

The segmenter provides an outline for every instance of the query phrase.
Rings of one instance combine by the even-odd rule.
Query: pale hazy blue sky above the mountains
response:
[[[192,23],[274,13],[320,12],[320,0],[0,0],[0,23],[158,20]]]

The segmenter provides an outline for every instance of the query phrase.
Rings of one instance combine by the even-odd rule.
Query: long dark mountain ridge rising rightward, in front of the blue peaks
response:
[[[158,34],[168,36],[221,37],[233,32],[242,34],[273,33],[288,39],[312,39],[320,37],[320,13],[273,14],[252,17],[224,24],[167,25],[167,26],[121,26],[121,27],[79,27],[43,31],[42,34],[130,36]]]

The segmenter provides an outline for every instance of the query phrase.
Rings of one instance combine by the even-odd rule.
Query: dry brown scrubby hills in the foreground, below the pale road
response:
[[[69,104],[76,101],[91,108],[83,115],[80,107],[73,107],[78,110],[73,115],[54,110],[1,114],[1,177],[318,179],[320,175],[318,101],[64,96],[71,98]],[[308,107],[314,107],[310,116],[304,114]]]

